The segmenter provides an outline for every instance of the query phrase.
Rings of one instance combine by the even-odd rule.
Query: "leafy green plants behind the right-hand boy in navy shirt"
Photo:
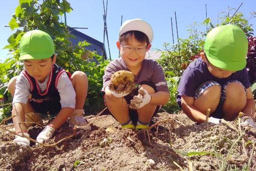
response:
[[[205,19],[201,25],[193,23],[189,26],[190,28],[188,29],[188,39],[178,39],[178,43],[174,45],[170,45],[170,43],[164,43],[163,49],[158,49],[158,51],[162,52],[158,62],[166,73],[166,79],[168,81],[168,87],[170,90],[169,102],[166,106],[163,106],[163,108],[167,109],[167,111],[172,111],[168,110],[168,108],[178,108],[177,105],[175,107],[175,97],[177,93],[174,93],[173,91],[177,90],[179,80],[176,81],[173,79],[176,79],[177,76],[181,76],[189,63],[200,57],[200,53],[203,52],[205,36],[210,30],[220,25],[234,24],[239,26],[244,31],[246,36],[251,36],[253,34],[253,29],[251,28],[252,25],[249,24],[249,20],[256,17],[256,13],[251,13],[251,17],[248,20],[242,15],[241,12],[237,12],[234,16],[231,16],[230,14],[233,13],[235,13],[235,9],[232,8],[228,8],[227,11],[221,12],[220,19],[217,21],[218,23],[216,25],[214,25],[209,18]],[[200,31],[200,26],[205,25],[207,27],[207,31]],[[251,83],[253,83],[256,77],[256,68],[254,68],[256,67],[256,38],[254,41],[254,37],[249,37],[248,41],[249,49],[246,58],[246,66],[249,68],[250,80]],[[171,74],[168,74],[168,72]]]

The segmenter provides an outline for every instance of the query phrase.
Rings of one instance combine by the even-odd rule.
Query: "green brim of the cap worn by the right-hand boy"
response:
[[[246,65],[245,57],[244,57],[244,60],[237,61],[237,62],[236,61],[221,61],[221,60],[214,59],[214,58],[211,58],[208,56],[207,56],[207,59],[209,60],[209,62],[211,64],[213,64],[214,66],[216,66],[218,68],[232,70],[232,71],[242,70]]]

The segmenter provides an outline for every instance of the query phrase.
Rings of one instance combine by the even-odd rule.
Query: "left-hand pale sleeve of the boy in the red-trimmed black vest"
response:
[[[13,98],[13,104],[24,103],[27,104],[30,94],[30,83],[28,79],[21,73],[16,79],[16,88]]]

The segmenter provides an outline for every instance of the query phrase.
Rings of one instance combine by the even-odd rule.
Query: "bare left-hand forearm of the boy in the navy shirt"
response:
[[[194,106],[194,97],[181,96],[181,107],[183,112],[194,122],[203,123],[206,120],[206,115],[201,113]]]

